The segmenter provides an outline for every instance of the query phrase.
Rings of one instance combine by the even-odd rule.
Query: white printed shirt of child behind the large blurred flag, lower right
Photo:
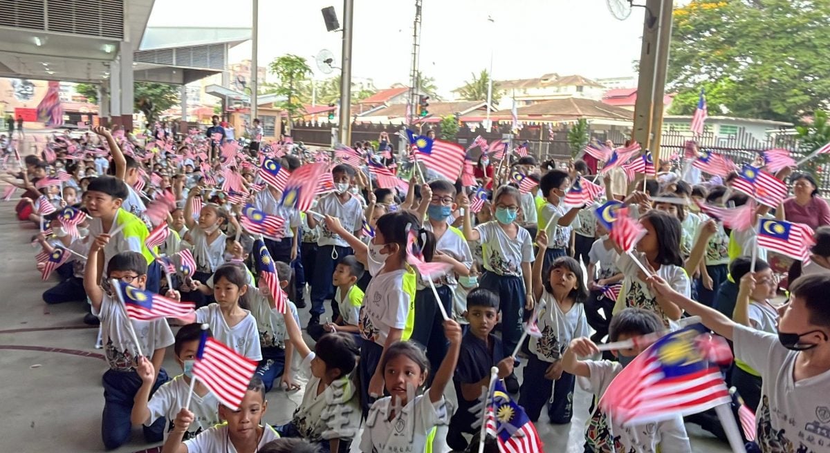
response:
[[[610,360],[585,360],[591,376],[579,377],[579,387],[602,397],[613,378],[623,371],[623,365]],[[613,437],[614,445],[609,445]],[[655,453],[657,446],[666,453],[689,453],[691,445],[686,435],[686,426],[683,418],[673,417],[657,423],[646,423],[624,427],[611,421],[608,426],[608,417],[599,407],[595,407],[588,420],[588,430],[585,440],[596,453],[637,451],[638,453]]]

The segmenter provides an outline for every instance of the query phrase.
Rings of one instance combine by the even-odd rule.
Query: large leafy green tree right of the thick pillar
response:
[[[830,2],[692,0],[674,10],[668,88],[688,111],[701,86],[731,116],[792,121],[830,99]],[[717,109],[715,111],[718,111]]]

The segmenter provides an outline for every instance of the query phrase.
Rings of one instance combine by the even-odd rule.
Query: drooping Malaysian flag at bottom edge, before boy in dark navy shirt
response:
[[[505,384],[496,380],[493,393],[488,398],[491,407],[491,420],[488,420],[486,430],[496,437],[499,451],[504,453],[538,453],[544,451],[542,440],[536,427],[527,417],[525,409],[510,399]]]

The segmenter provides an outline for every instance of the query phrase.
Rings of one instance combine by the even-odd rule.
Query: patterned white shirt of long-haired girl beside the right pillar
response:
[[[623,289],[614,305],[613,314],[616,315],[623,308],[635,307],[645,310],[653,311],[663,320],[663,325],[671,327],[675,321],[669,320],[663,309],[657,304],[657,298],[648,289],[647,282],[643,282],[638,277],[640,267],[637,263],[628,257],[627,254],[620,255],[617,258],[617,267],[620,272],[625,274],[623,279]],[[691,283],[689,276],[686,275],[686,270],[683,267],[675,266],[674,264],[663,264],[657,269],[657,275],[661,277],[669,286],[676,292],[683,296],[691,297]]]

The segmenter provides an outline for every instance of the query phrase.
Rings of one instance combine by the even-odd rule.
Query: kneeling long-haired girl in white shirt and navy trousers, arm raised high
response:
[[[533,264],[534,296],[546,305],[538,318],[540,338],[530,337],[530,357],[525,365],[520,389],[519,405],[525,407],[532,422],[546,402],[551,423],[569,423],[574,415],[574,375],[562,370],[562,354],[571,340],[590,333],[583,303],[588,299],[588,289],[582,267],[574,258],[556,258],[550,265],[547,282],[542,282],[544,249],[548,235],[540,231],[536,237],[539,254]],[[547,270],[547,269],[545,269]],[[550,381],[554,381],[551,383]],[[553,398],[551,398],[553,393]]]

